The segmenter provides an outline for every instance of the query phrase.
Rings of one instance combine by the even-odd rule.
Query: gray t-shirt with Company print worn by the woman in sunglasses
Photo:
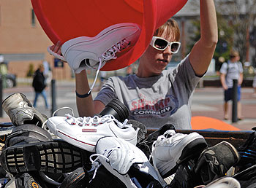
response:
[[[187,56],[172,71],[156,77],[110,77],[94,100],[107,105],[117,98],[129,109],[129,119],[147,128],[171,123],[176,129],[191,129],[190,103],[199,80]]]

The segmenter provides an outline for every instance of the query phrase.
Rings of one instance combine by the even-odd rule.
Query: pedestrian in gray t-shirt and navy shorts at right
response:
[[[233,96],[233,79],[238,80],[238,102],[237,102],[237,114],[238,120],[241,120],[241,84],[243,82],[243,65],[239,61],[239,53],[235,50],[230,52],[230,60],[227,63],[223,63],[220,68],[220,81],[224,89],[224,119],[228,119],[228,101]]]

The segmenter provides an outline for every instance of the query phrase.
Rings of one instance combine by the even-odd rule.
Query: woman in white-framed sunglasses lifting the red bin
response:
[[[89,92],[86,71],[75,74],[77,106],[80,117],[102,111],[113,98],[129,109],[129,119],[148,128],[172,123],[176,129],[191,129],[190,101],[200,77],[206,73],[217,44],[217,17],[213,0],[200,0],[201,37],[178,67],[165,71],[167,63],[179,48],[176,21],[168,20],[157,29],[151,45],[140,57],[135,75],[110,77],[94,101]],[[60,54],[60,44],[52,46]]]

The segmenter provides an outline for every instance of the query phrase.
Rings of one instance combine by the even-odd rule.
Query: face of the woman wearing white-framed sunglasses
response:
[[[174,36],[166,36],[165,32],[159,36],[166,39],[169,42],[174,42]],[[173,53],[170,52],[170,46],[165,50],[157,50],[149,45],[148,49],[140,58],[140,66],[143,69],[143,77],[157,76],[165,70],[167,64],[170,62]],[[139,75],[141,76],[141,75]]]

